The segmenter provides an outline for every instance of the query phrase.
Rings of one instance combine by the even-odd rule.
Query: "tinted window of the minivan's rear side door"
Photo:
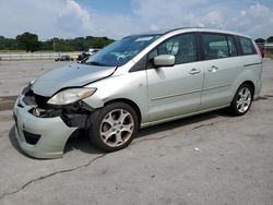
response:
[[[203,34],[205,60],[227,58],[230,56],[225,35]]]

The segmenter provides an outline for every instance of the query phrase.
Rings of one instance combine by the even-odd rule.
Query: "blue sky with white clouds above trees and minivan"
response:
[[[0,0],[0,35],[39,39],[205,26],[273,36],[273,0]]]

